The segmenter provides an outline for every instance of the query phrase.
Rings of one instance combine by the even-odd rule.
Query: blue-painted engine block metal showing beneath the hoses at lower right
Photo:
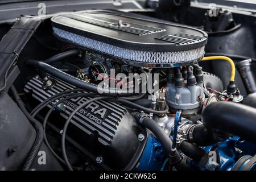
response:
[[[232,137],[224,142],[204,147],[206,152],[217,151],[220,158],[220,171],[232,171],[236,167],[238,171],[246,166],[256,154],[256,145],[240,137]],[[139,161],[138,171],[159,171],[163,170],[168,162],[167,155],[158,139],[149,136],[146,147]],[[191,164],[194,163],[193,160]],[[193,165],[191,165],[193,166]],[[250,167],[250,171],[256,170],[256,163]]]

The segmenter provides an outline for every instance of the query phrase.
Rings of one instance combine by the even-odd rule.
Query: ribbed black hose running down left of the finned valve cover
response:
[[[24,106],[24,103],[22,102],[21,98],[19,97],[19,94],[17,92],[17,90],[15,89],[14,85],[11,85],[11,92],[13,93],[14,99],[16,101],[16,103],[18,104],[20,110],[23,111],[24,115],[26,115],[27,119],[31,122],[32,126],[35,127],[36,129],[36,140],[34,142],[34,145],[30,151],[30,154],[27,157],[27,160],[22,168],[23,171],[28,171],[36,156],[38,155],[38,152],[42,146],[43,143],[43,126],[41,125],[41,123],[39,121],[37,121],[35,118],[33,118],[30,113],[28,113],[26,107]]]

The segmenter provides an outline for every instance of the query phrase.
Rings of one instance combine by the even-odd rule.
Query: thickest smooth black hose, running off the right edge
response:
[[[256,143],[256,109],[233,102],[213,102],[203,113],[207,129],[221,130]]]

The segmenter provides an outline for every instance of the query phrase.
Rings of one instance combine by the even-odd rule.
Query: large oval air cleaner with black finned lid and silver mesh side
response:
[[[57,15],[52,26],[62,40],[142,67],[196,63],[207,43],[207,34],[196,28],[132,18],[117,11]]]

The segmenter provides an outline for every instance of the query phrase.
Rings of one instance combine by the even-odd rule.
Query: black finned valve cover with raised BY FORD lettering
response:
[[[27,82],[24,91],[43,102],[57,93],[75,89],[73,85],[54,79],[56,85],[49,90],[43,90],[43,82],[40,78],[33,77]],[[67,119],[77,106],[89,99],[89,97],[79,97],[67,100],[57,106],[57,109],[60,115]],[[64,122],[51,122],[62,130]],[[89,152],[88,157],[94,162],[97,156],[101,156],[103,159],[101,165],[104,164],[110,169],[133,169],[146,144],[146,137],[143,141],[138,140],[140,133],[147,136],[146,131],[138,125],[125,107],[113,102],[102,100],[91,102],[74,115],[71,123],[68,137],[79,143],[84,148],[82,152],[86,150],[86,155]]]

